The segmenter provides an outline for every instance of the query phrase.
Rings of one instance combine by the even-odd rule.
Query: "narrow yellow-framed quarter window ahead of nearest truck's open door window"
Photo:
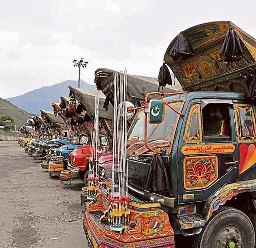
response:
[[[202,123],[200,104],[194,104],[190,108],[184,140],[187,144],[202,142]]]

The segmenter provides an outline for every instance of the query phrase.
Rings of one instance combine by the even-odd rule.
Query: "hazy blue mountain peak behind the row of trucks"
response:
[[[8,98],[7,100],[30,113],[40,114],[40,109],[52,110],[51,103],[60,102],[60,96],[68,96],[68,85],[78,86],[78,81],[67,80],[52,86],[42,87],[29,91],[23,95]],[[80,80],[80,87],[84,89],[96,89],[95,85]]]

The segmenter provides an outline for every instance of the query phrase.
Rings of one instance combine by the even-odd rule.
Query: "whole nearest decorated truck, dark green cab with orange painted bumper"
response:
[[[256,40],[232,22],[201,24],[164,62],[184,91],[127,109],[127,158],[113,156],[87,204],[89,245],[179,248],[183,235],[193,248],[254,248]]]

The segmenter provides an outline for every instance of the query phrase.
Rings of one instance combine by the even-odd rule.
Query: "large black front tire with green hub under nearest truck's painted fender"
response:
[[[224,206],[195,236],[193,248],[254,248],[255,233],[252,222],[242,211]]]

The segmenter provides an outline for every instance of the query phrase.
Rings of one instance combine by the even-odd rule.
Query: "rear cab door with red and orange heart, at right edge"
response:
[[[255,106],[235,103],[234,114],[239,151],[239,181],[255,179],[256,124]]]

